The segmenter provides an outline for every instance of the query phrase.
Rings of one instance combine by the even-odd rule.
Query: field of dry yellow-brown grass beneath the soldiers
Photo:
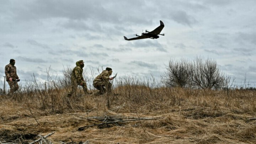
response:
[[[94,91],[94,90],[91,90]],[[111,95],[66,97],[68,90],[23,89],[0,97],[0,141],[30,143],[256,143],[256,91],[119,85]],[[81,93],[81,91],[80,91]],[[88,117],[156,118],[100,123]]]

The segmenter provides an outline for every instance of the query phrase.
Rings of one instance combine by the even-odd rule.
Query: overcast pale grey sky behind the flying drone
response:
[[[22,80],[62,76],[84,60],[119,76],[159,78],[170,59],[196,56],[256,83],[255,0],[0,0],[0,80],[11,58]],[[165,24],[158,39],[125,41]]]

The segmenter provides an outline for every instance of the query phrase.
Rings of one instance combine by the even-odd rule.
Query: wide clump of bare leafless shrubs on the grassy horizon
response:
[[[220,89],[225,86],[225,76],[213,59],[196,57],[192,62],[185,59],[169,61],[162,82],[168,87],[195,87]]]

